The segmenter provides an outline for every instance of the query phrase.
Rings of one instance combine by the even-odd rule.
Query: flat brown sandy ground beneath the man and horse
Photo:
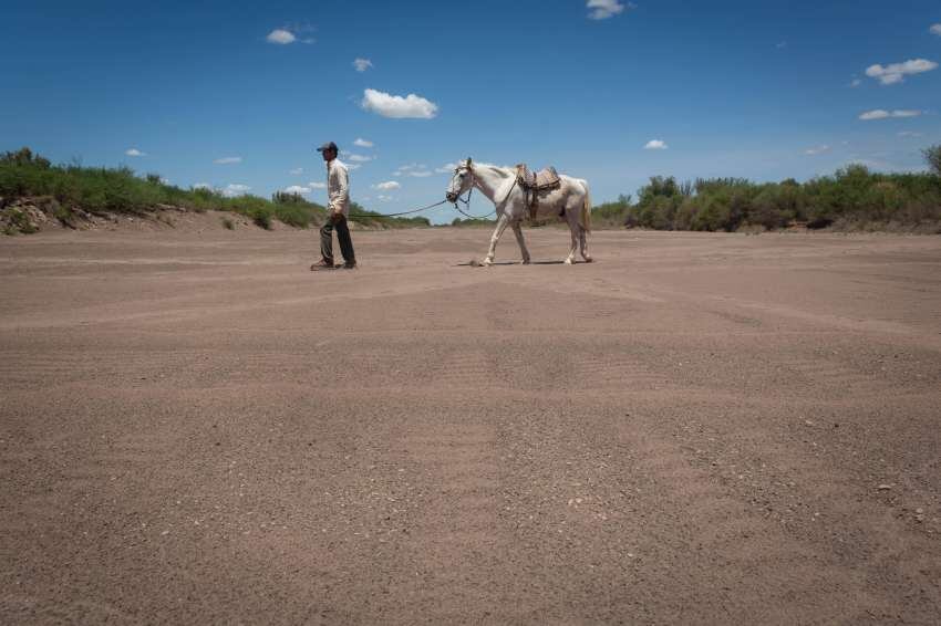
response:
[[[0,240],[0,622],[941,620],[941,238],[488,238]]]

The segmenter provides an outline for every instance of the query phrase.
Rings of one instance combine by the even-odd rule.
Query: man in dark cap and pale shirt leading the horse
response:
[[[353,270],[356,268],[356,255],[353,252],[353,240],[350,239],[350,227],[347,225],[347,216],[350,212],[350,174],[337,154],[337,144],[329,142],[323,144],[317,152],[323,155],[327,161],[327,222],[320,228],[320,261],[312,264],[310,269],[332,270],[333,264],[333,230],[337,230],[337,239],[340,240],[340,252],[343,254],[343,268]]]

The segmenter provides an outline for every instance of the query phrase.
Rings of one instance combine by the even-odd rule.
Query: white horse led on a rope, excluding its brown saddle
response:
[[[571,265],[575,261],[576,249],[581,247],[581,255],[587,263],[591,262],[588,253],[587,233],[591,231],[591,196],[588,191],[588,182],[581,178],[559,175],[560,185],[556,189],[534,191],[539,199],[536,217],[561,217],[571,231],[571,250],[566,257],[565,263]],[[526,206],[527,192],[520,187],[516,179],[516,169],[511,167],[498,167],[475,163],[471,159],[458,165],[454,170],[454,177],[447,188],[447,201],[457,202],[457,199],[466,191],[477,188],[484,196],[490,199],[496,207],[497,228],[490,237],[490,249],[482,261],[484,265],[494,262],[497,241],[506,230],[507,226],[513,228],[519,251],[523,253],[523,263],[529,264],[529,250],[523,239],[521,221],[529,212]]]

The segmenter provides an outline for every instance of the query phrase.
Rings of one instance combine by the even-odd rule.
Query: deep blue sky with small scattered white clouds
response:
[[[441,199],[435,170],[467,156],[555,165],[598,204],[658,174],[922,169],[920,149],[941,142],[937,1],[33,0],[2,13],[0,149],[182,187],[297,186],[322,202],[313,147],[332,139],[359,166],[353,199],[379,211]]]

